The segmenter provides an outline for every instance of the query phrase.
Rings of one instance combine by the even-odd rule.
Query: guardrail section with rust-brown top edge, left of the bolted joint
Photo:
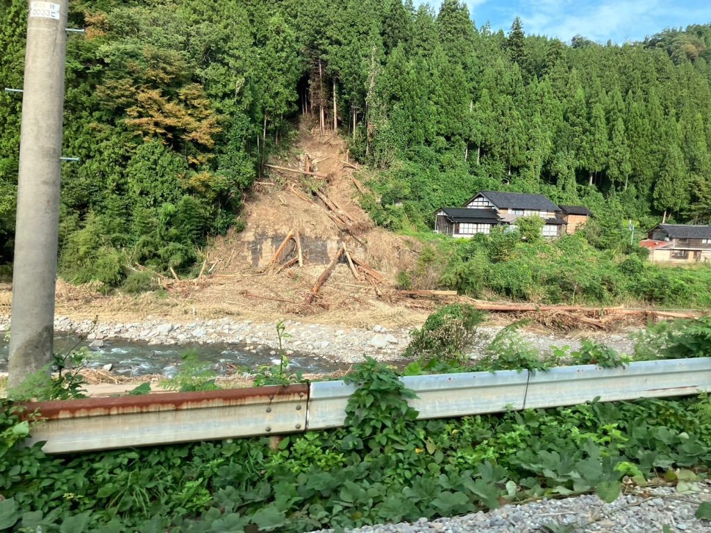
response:
[[[309,387],[255,387],[27,404],[47,453],[109,450],[304,431]]]

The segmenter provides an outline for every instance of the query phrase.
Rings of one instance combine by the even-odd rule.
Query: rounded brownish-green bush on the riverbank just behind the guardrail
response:
[[[466,348],[482,342],[477,327],[485,320],[486,313],[474,306],[444,306],[427,317],[422,329],[412,330],[412,340],[403,355],[427,360],[461,359]]]

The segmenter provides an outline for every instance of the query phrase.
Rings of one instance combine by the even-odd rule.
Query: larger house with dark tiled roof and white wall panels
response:
[[[589,210],[582,206],[568,205],[566,208],[569,208],[567,214],[542,194],[482,190],[461,208],[440,208],[434,231],[452,237],[471,237],[476,233],[488,234],[495,226],[515,227],[516,219],[536,216],[545,220],[542,229],[544,237],[560,237],[564,232],[577,230],[590,215]],[[564,230],[569,223],[574,229]]]

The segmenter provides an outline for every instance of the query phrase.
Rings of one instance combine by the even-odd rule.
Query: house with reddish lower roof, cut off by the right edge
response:
[[[639,245],[649,249],[654,262],[711,262],[711,226],[660,224]]]

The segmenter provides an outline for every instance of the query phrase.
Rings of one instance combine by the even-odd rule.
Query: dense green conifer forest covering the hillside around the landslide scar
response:
[[[26,1],[0,0],[21,87]],[[68,38],[60,273],[186,273],[239,225],[294,119],[334,122],[373,171],[375,221],[423,230],[481,188],[592,208],[611,229],[711,220],[711,25],[570,45],[411,0],[77,0]],[[0,263],[11,260],[21,98],[0,96]]]

